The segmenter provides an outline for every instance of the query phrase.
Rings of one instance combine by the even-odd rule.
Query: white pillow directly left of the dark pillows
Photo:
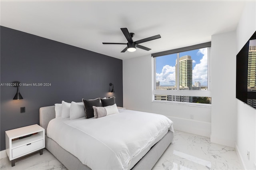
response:
[[[85,116],[84,103],[71,102],[70,105],[70,119],[79,119]]]

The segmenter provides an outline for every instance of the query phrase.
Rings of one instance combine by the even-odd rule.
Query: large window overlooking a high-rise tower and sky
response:
[[[153,101],[211,104],[210,42],[154,53],[152,57]]]

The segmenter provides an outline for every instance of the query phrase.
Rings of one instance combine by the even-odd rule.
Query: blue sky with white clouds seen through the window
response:
[[[196,49],[180,53],[180,57],[190,55],[193,61],[192,83],[199,81],[207,86],[208,48]],[[156,57],[156,81],[161,86],[175,86],[175,63],[177,54]]]

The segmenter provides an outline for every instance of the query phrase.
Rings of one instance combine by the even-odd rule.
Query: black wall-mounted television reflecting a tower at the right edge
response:
[[[256,109],[256,32],[236,55],[236,98]]]

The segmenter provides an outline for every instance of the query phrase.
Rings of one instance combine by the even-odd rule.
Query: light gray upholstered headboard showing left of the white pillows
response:
[[[46,130],[50,120],[55,118],[55,106],[46,106],[39,109],[39,125]]]

